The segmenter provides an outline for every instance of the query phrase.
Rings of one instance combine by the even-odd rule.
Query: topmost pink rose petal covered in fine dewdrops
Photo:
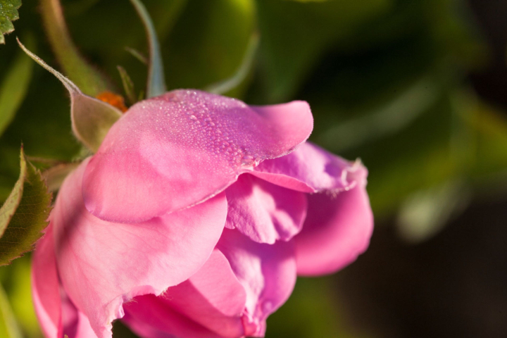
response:
[[[130,108],[109,130],[84,175],[87,209],[137,223],[198,204],[284,156],[313,128],[306,102],[250,107],[196,90],[176,90]]]

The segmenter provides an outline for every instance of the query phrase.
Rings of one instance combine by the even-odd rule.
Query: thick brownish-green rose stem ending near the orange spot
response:
[[[63,68],[82,92],[97,96],[111,91],[108,81],[77,50],[68,32],[59,0],[41,0],[41,14],[49,43]]]

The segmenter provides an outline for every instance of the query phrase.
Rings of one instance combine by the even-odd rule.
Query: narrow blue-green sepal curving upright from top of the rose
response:
[[[144,28],[146,29],[146,37],[149,42],[149,65],[148,65],[148,83],[146,84],[146,97],[154,97],[166,92],[163,62],[160,51],[160,44],[155,32],[155,27],[146,7],[139,0],[130,0],[134,5],[139,18],[141,18]]]

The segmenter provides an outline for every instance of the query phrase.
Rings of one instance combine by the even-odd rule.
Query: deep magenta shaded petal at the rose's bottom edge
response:
[[[139,299],[139,303],[137,303]],[[223,338],[146,294],[125,303],[122,321],[143,338]]]

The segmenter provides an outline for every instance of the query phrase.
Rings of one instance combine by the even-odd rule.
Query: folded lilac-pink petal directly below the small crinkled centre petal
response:
[[[245,335],[263,337],[266,318],[287,301],[296,283],[292,241],[260,244],[225,229],[217,248],[246,290]]]

